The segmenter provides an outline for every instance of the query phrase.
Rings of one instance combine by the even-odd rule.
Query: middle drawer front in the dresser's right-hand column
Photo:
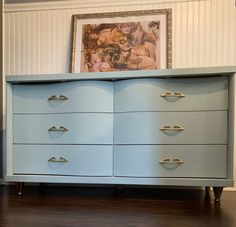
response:
[[[227,144],[227,111],[119,113],[114,124],[115,144]]]

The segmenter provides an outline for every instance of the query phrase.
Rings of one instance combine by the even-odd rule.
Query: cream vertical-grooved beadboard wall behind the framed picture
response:
[[[73,14],[165,8],[173,68],[236,65],[235,0],[80,0],[5,5],[5,75],[68,72]]]

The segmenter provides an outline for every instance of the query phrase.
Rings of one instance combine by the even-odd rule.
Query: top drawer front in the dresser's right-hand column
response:
[[[181,94],[184,97],[181,97]],[[115,84],[116,112],[226,109],[228,109],[226,77],[133,79],[118,81]]]

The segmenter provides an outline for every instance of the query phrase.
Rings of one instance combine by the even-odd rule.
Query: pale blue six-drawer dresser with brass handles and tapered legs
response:
[[[235,72],[7,76],[5,180],[213,187],[219,201],[233,186]]]

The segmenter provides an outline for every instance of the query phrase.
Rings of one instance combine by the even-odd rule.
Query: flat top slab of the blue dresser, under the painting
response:
[[[25,82],[56,82],[76,80],[122,80],[129,78],[169,78],[169,77],[198,77],[198,76],[222,76],[236,73],[236,66],[225,67],[200,67],[179,68],[162,70],[134,70],[116,72],[90,72],[90,73],[65,73],[65,74],[32,74],[32,75],[8,75],[8,83]]]

